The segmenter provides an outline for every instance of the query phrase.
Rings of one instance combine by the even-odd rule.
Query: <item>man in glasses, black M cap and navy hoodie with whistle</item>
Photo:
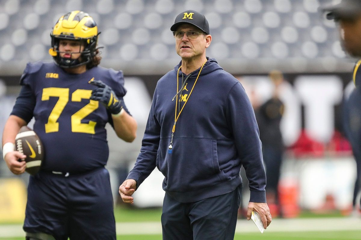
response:
[[[181,62],[157,83],[142,148],[119,187],[125,203],[157,167],[165,176],[163,239],[234,239],[242,193],[249,180],[251,211],[271,222],[261,141],[243,86],[206,56],[212,36],[203,14],[180,13],[170,28]],[[175,101],[173,101],[175,100]]]

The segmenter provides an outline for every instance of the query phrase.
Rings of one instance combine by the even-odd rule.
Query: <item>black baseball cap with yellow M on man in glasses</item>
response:
[[[191,24],[196,26],[203,32],[209,34],[209,24],[203,14],[195,10],[187,10],[179,13],[175,18],[174,24],[170,27],[170,31],[177,31],[177,27],[182,24]]]

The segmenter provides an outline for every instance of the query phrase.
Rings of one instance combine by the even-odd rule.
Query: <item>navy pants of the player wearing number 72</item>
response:
[[[26,232],[44,232],[56,240],[115,240],[108,170],[30,176],[25,215]]]

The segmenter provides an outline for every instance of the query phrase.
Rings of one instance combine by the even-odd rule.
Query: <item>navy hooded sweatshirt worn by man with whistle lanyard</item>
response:
[[[168,146],[177,98],[172,99],[177,93],[181,63],[158,81],[142,148],[127,179],[134,179],[139,187],[157,167],[165,177],[166,193],[179,202],[193,202],[233,191],[242,183],[243,165],[250,201],[266,202],[266,175],[252,106],[241,83],[215,59],[207,59],[178,118],[171,154]],[[189,96],[199,71],[191,73],[183,96]],[[182,74],[186,78],[179,71],[178,90]]]

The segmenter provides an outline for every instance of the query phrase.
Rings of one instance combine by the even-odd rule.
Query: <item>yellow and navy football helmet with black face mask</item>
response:
[[[51,48],[49,54],[53,56],[55,63],[62,68],[73,68],[89,63],[96,55],[98,28],[95,21],[88,13],[73,11],[59,18],[50,33]],[[59,40],[75,40],[84,44],[84,50],[78,59],[61,58],[59,54]],[[71,54],[71,53],[70,53]]]

